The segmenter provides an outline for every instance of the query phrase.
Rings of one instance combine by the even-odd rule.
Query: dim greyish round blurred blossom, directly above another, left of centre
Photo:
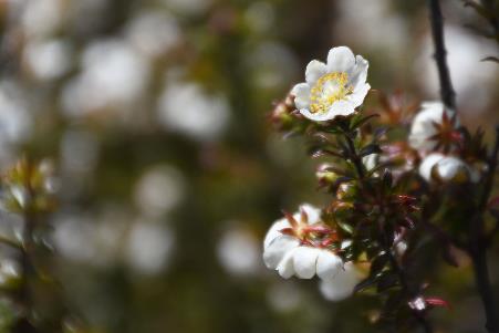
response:
[[[185,192],[184,177],[171,166],[155,166],[138,180],[134,199],[141,212],[159,217],[180,202]]]

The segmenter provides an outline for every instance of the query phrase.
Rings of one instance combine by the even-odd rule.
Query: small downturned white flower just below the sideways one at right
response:
[[[430,181],[434,174],[444,181],[469,179],[477,183],[480,178],[479,173],[460,158],[439,153],[426,156],[419,165],[419,175],[426,181]]]

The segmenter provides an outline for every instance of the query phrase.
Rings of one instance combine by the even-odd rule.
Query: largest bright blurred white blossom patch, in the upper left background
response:
[[[64,112],[82,116],[112,108],[126,111],[142,96],[149,64],[121,40],[97,41],[83,53],[83,72],[63,92]]]

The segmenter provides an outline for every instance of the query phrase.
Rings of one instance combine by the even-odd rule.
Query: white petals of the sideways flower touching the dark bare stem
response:
[[[432,152],[436,148],[437,141],[432,138],[438,134],[436,125],[443,123],[444,111],[449,118],[454,114],[453,111],[447,110],[440,102],[422,103],[422,110],[414,118],[410,127],[410,147],[420,152]]]

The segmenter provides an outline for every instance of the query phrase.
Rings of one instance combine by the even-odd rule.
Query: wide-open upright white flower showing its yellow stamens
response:
[[[349,48],[331,49],[328,63],[312,60],[306,66],[306,82],[292,89],[297,108],[316,122],[354,113],[371,89],[366,83],[367,69],[368,62]]]

